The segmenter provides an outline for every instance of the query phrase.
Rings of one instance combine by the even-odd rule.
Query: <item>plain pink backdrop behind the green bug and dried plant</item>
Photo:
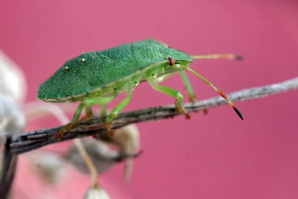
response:
[[[24,71],[27,101],[35,100],[42,81],[81,52],[148,37],[189,54],[244,55],[244,62],[192,64],[229,93],[298,75],[297,10],[295,0],[2,0],[0,48]],[[189,78],[198,99],[217,96],[195,76]],[[163,84],[186,94],[179,76]],[[136,199],[297,199],[297,97],[291,91],[236,102],[245,121],[224,105],[207,116],[192,113],[188,121],[181,116],[141,123],[145,153],[134,162],[130,189],[122,187],[122,164],[101,176],[101,182],[115,199],[119,193]],[[125,111],[173,102],[141,84]],[[53,120],[26,130],[56,125]],[[69,144],[53,147],[64,150]],[[33,190],[38,183],[28,183],[23,168],[16,183]],[[71,183],[56,189],[61,198],[79,199],[89,186],[87,176],[72,175]]]

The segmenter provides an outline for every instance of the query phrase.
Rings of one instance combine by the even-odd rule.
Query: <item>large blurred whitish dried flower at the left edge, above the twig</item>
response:
[[[22,71],[0,50],[0,141],[7,134],[17,135],[26,125],[20,104],[26,93]]]

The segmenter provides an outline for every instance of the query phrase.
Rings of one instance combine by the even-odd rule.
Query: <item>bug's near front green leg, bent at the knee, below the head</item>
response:
[[[181,106],[181,103],[182,103],[182,100],[183,100],[183,96],[180,92],[178,91],[175,91],[169,87],[166,87],[166,86],[160,86],[160,85],[157,85],[156,83],[154,82],[148,82],[150,84],[150,86],[160,92],[160,93],[163,93],[163,94],[166,94],[168,96],[171,96],[173,98],[176,99],[175,101],[175,106],[177,107],[178,111],[183,113],[185,115],[185,117],[187,119],[190,118],[190,115],[187,113],[187,111]]]

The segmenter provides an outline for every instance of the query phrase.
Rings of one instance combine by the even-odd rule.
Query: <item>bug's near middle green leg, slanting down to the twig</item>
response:
[[[118,116],[118,114],[121,112],[121,110],[123,108],[125,108],[125,106],[127,106],[127,104],[129,103],[129,101],[131,100],[132,98],[132,94],[133,94],[133,91],[132,90],[129,90],[126,92],[126,97],[120,101],[112,110],[111,112],[109,113],[109,115],[107,116],[107,120],[106,120],[106,128],[107,130],[109,131],[109,134],[110,136],[113,136],[114,134],[114,131],[111,129],[111,125],[112,125],[112,122],[113,122],[113,119],[115,117]]]

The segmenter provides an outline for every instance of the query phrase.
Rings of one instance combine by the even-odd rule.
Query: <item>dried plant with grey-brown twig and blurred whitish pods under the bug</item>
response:
[[[34,151],[42,146],[58,142],[55,134],[62,126],[22,133],[26,119],[36,120],[53,114],[64,125],[69,122],[65,113],[74,111],[74,107],[68,106],[66,109],[62,109],[58,105],[44,103],[40,105],[37,102],[24,105],[24,77],[20,71],[17,71],[13,62],[7,61],[7,57],[4,57],[3,54],[0,55],[0,141],[4,144],[1,155],[3,159],[0,164],[3,174],[0,181],[0,196],[3,199],[7,198],[13,181],[17,155],[24,155],[30,160],[36,172],[49,184],[59,183],[66,174],[65,166],[71,164],[77,171],[91,176],[91,184],[83,196],[84,199],[109,199],[109,195],[97,181],[97,176],[117,162],[125,161],[124,180],[129,182],[133,168],[132,160],[140,154],[140,134],[136,123],[179,115],[173,105],[121,113],[114,120],[113,129],[116,132],[113,137],[107,136],[105,118],[93,117],[78,123],[63,136],[62,140],[74,139],[74,144],[65,153]],[[11,65],[14,65],[13,70],[9,68]],[[11,74],[16,78],[9,78]],[[11,80],[15,84],[11,84]],[[7,89],[8,87],[10,88]],[[277,84],[245,89],[227,96],[232,101],[251,100],[297,88],[298,78],[294,78]],[[225,103],[226,101],[222,98],[211,98],[186,103],[184,108],[188,112],[195,112]],[[97,140],[81,139],[90,135],[97,135]],[[116,146],[116,150],[111,149],[112,145]],[[138,150],[139,152],[137,152]]]

